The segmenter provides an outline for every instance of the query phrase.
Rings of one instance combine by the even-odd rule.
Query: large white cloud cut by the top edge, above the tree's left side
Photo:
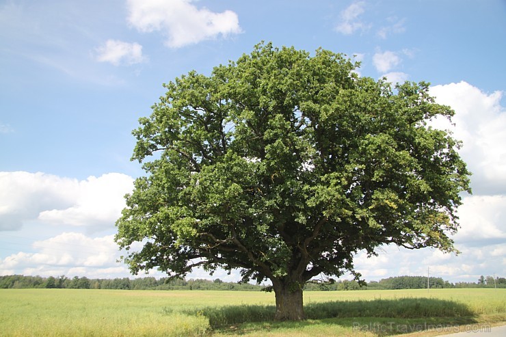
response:
[[[162,31],[165,44],[179,48],[219,35],[241,33],[235,12],[211,12],[197,8],[191,0],[129,0],[129,23],[139,31]]]

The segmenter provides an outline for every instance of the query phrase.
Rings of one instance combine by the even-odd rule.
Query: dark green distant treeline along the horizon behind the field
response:
[[[506,278],[481,276],[478,282],[450,283],[442,278],[429,278],[429,288],[506,288]],[[89,279],[86,277],[67,278],[61,275],[57,278],[50,276],[7,275],[0,276],[0,288],[69,288],[69,289],[124,289],[124,290],[213,290],[213,291],[261,291],[265,286],[224,282],[219,280],[202,279],[169,279],[169,278],[115,278]],[[420,289],[427,288],[427,277],[397,276],[380,281],[367,282],[360,286],[355,280],[338,280],[336,282],[314,281],[304,286],[305,291],[349,291],[358,289],[389,290],[389,289]]]

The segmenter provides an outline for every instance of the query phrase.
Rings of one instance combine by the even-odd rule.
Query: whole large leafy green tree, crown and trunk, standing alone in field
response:
[[[358,66],[261,43],[164,84],[133,131],[146,176],[116,224],[131,271],[239,269],[244,282],[272,282],[278,319],[302,319],[304,283],[359,278],[357,252],[455,252],[470,173],[460,142],[429,124],[453,110],[429,83],[392,87]]]

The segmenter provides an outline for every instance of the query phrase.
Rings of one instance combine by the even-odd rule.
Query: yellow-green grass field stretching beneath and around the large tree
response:
[[[506,289],[306,292],[298,323],[274,308],[262,292],[2,289],[0,336],[436,336],[506,324]]]

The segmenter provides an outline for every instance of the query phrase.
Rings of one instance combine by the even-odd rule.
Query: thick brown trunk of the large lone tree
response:
[[[304,319],[302,285],[299,282],[273,282],[276,294],[276,321],[300,321]]]

